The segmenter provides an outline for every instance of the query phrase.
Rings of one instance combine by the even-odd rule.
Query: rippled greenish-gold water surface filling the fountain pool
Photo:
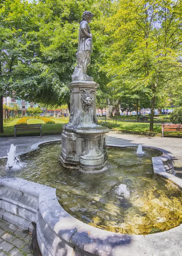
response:
[[[60,144],[47,145],[24,157],[27,166],[5,171],[56,188],[59,202],[75,218],[104,230],[127,234],[165,231],[182,222],[182,192],[173,183],[153,175],[151,157],[159,151],[111,149],[106,170],[84,174],[59,162]]]

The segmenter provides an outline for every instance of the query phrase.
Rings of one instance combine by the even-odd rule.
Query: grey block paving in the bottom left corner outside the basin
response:
[[[0,256],[33,256],[31,239],[28,231],[0,220]]]

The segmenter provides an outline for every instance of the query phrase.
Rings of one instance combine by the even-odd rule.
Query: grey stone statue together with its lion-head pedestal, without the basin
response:
[[[71,111],[69,122],[61,135],[61,163],[69,169],[95,172],[107,162],[105,133],[107,127],[98,125],[96,88],[98,84],[87,76],[92,53],[91,12],[84,12],[78,37],[77,66],[68,84]]]

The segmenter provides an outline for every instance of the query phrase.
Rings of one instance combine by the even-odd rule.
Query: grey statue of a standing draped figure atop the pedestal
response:
[[[92,17],[92,12],[88,11],[85,11],[82,15],[78,36],[78,52],[76,54],[77,66],[72,77],[87,76],[87,67],[90,65],[92,53],[92,34],[89,27]]]

